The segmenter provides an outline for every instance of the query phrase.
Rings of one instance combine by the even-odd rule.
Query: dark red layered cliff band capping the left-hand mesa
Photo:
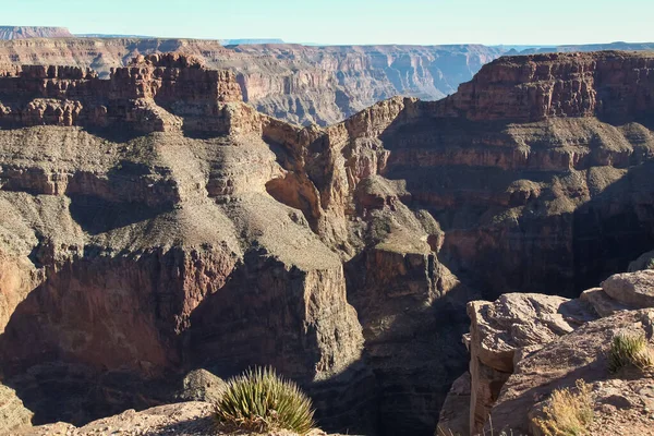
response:
[[[232,73],[207,70],[179,55],[138,58],[130,66],[112,70],[109,80],[76,66],[43,65],[8,69],[0,77],[0,125],[4,126],[120,124],[161,132],[182,126],[186,116],[217,116],[229,101],[241,101]]]

